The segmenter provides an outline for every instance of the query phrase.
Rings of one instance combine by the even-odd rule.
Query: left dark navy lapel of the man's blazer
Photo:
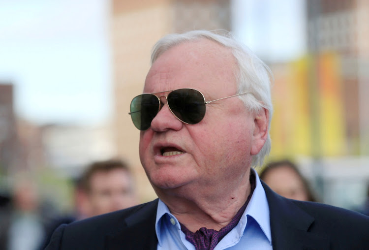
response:
[[[116,234],[106,237],[108,250],[156,250],[155,219],[158,200],[154,200],[125,219]],[[123,224],[123,221],[122,221]]]

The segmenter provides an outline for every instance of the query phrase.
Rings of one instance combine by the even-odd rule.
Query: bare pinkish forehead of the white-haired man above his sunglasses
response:
[[[183,42],[156,59],[147,74],[144,93],[218,88],[221,86],[215,83],[219,79],[229,89],[230,85],[236,85],[236,65],[232,51],[214,41],[202,38]]]

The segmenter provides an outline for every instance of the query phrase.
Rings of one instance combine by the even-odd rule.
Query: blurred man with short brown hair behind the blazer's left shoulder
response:
[[[73,180],[74,214],[58,217],[47,227],[44,249],[61,224],[117,211],[138,204],[133,175],[123,160],[94,161]]]

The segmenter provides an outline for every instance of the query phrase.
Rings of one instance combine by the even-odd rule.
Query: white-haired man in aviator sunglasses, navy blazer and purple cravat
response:
[[[368,217],[283,198],[251,168],[270,151],[269,79],[227,35],[160,39],[130,106],[159,199],[61,226],[48,249],[368,248]]]

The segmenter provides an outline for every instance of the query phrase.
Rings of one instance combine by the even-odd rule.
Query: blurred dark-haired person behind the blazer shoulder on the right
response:
[[[269,162],[259,176],[273,191],[286,198],[317,201],[307,180],[290,160]]]

